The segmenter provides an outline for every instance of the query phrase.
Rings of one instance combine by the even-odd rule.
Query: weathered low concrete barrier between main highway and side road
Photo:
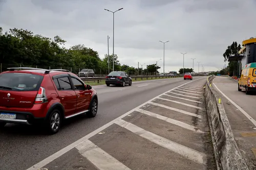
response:
[[[248,166],[234,140],[224,106],[219,100],[220,96],[214,87],[210,86],[214,78],[215,76],[208,78],[205,100],[217,167],[225,170],[247,170]]]

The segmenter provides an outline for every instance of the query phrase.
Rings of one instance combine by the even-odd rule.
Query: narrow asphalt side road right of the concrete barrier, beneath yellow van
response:
[[[238,91],[238,81],[216,77],[214,88],[219,92],[238,148],[249,169],[256,169],[256,94]],[[217,89],[217,88],[218,89]]]

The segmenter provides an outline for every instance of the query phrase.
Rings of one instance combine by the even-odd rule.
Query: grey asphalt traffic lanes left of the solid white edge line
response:
[[[99,96],[97,116],[67,120],[56,135],[46,135],[43,130],[31,126],[7,125],[0,130],[0,169],[26,169],[127,111],[186,82],[183,78],[172,78],[133,82],[132,86],[125,87],[95,86]]]

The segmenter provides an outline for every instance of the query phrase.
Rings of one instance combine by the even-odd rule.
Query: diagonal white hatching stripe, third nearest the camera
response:
[[[150,111],[147,111],[147,110],[143,110],[143,109],[137,109],[136,111],[138,111],[138,112],[140,112],[140,113],[143,113],[143,114],[146,114],[146,115],[148,115],[148,116],[156,117],[156,118],[158,118],[158,119],[164,120],[165,122],[168,122],[168,123],[170,123],[170,124],[177,125],[177,126],[179,126],[179,127],[188,129],[188,130],[190,130],[190,131],[199,132],[199,133],[204,133],[203,131],[198,130],[198,128],[196,128],[195,126],[188,125],[188,124],[186,124],[186,123],[180,122],[180,121],[178,121],[178,120],[175,120],[175,119],[172,119],[172,118],[169,118],[169,117],[162,116],[162,115],[160,115],[160,114],[156,114],[156,113],[153,113],[153,112],[150,112]]]

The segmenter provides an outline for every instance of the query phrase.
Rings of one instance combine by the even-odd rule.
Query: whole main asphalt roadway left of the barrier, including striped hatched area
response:
[[[114,160],[112,163],[118,168],[113,169],[166,169],[166,167],[210,169],[214,164],[212,164],[208,126],[203,109],[199,109],[204,108],[203,90],[199,86],[203,86],[206,78],[198,81],[197,79],[200,78],[194,78],[194,82],[183,78],[172,78],[134,82],[132,86],[125,87],[95,86],[99,98],[97,116],[74,117],[66,121],[55,135],[46,135],[40,128],[9,124],[0,130],[0,169],[27,169],[31,166],[30,169],[38,169],[33,168],[35,164],[49,169],[106,169],[102,168],[104,163],[100,163],[104,162],[102,154],[108,158],[107,160]],[[167,101],[156,98],[153,103],[145,103],[188,82],[195,87],[187,85],[169,91],[163,96]],[[201,103],[198,103],[199,101]],[[146,105],[138,108],[143,103]],[[167,107],[163,108],[159,104]],[[134,109],[144,109],[148,114],[138,110],[135,114]],[[131,115],[128,115],[129,111]],[[155,114],[152,116],[150,115],[152,113]],[[162,115],[162,119],[154,118],[154,116],[159,117],[156,113]],[[119,119],[119,122],[110,124],[121,115],[126,116]],[[168,120],[172,120],[172,124],[166,122],[167,117],[172,118]],[[125,123],[132,123],[134,127],[125,128],[123,126]],[[91,135],[104,125],[109,126],[106,129],[101,128],[102,133]],[[148,133],[139,133],[144,137],[138,138],[136,136],[138,133],[134,133],[133,130],[141,130],[141,128]],[[148,136],[150,132],[155,135]],[[73,142],[82,141],[81,138],[88,135],[91,138],[83,141],[85,143],[72,147]],[[159,144],[161,139],[157,140],[159,137],[163,139],[162,144]],[[178,149],[166,146],[166,142],[173,143]],[[67,149],[69,146],[72,148]],[[85,146],[96,147],[97,152],[91,152],[92,150],[83,152],[86,150]],[[129,152],[132,148],[133,150]],[[60,150],[64,153],[60,154],[58,152]],[[169,150],[172,152],[170,153]],[[90,152],[91,155],[96,154],[94,158],[88,157]],[[131,156],[131,154],[135,155]],[[53,157],[57,159],[54,160]],[[113,157],[115,159],[112,159]]]

